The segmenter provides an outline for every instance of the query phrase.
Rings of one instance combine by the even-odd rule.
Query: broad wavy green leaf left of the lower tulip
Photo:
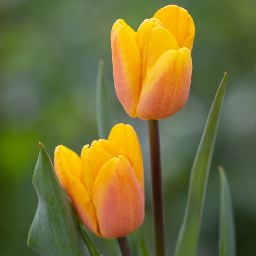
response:
[[[40,153],[33,176],[38,207],[28,235],[28,246],[40,255],[87,255],[72,209],[55,174],[46,148]]]

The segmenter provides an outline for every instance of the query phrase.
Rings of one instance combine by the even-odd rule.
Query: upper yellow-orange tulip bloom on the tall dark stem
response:
[[[122,19],[111,31],[115,90],[131,117],[163,119],[185,105],[192,74],[193,19],[176,5],[158,10],[137,32]]]

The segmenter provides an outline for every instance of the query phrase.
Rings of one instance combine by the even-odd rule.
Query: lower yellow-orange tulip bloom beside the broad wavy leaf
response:
[[[84,146],[81,157],[57,146],[54,166],[80,219],[97,236],[123,237],[142,224],[143,160],[132,126],[115,125],[108,140]]]

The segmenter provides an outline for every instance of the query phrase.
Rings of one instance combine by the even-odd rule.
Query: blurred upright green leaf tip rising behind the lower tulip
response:
[[[105,81],[103,60],[99,61],[96,82],[96,116],[99,138],[108,139],[110,130],[116,124],[116,119]]]

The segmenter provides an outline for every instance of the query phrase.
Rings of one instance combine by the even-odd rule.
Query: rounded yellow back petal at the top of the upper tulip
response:
[[[187,10],[177,5],[168,5],[158,10],[153,18],[159,19],[164,27],[176,38],[179,48],[192,50],[195,25]]]

